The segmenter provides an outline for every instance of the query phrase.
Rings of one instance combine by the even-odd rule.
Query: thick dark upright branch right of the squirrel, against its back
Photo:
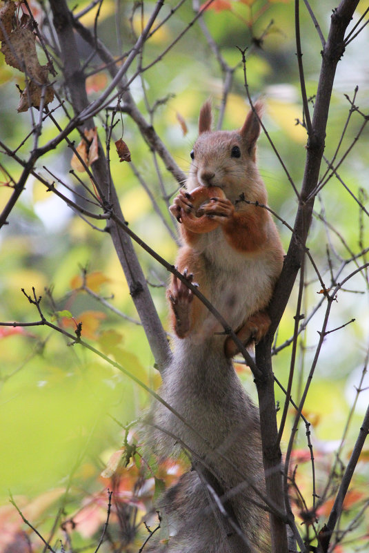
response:
[[[332,14],[328,40],[322,52],[323,59],[321,63],[317,98],[308,137],[305,173],[303,175],[303,184],[299,197],[297,216],[295,218],[294,232],[283,264],[281,276],[270,302],[270,318],[272,320],[270,331],[268,336],[262,340],[256,348],[257,366],[263,373],[263,378],[256,378],[255,382],[259,396],[266,490],[268,496],[272,501],[275,501],[282,510],[284,509],[283,496],[286,492],[283,490],[281,450],[278,440],[275,394],[273,389],[274,381],[271,361],[272,337],[274,336],[279,320],[290,298],[297,271],[299,271],[301,266],[315,199],[312,197],[312,199],[307,201],[307,198],[310,191],[317,185],[319,179],[319,169],[324,151],[326,124],[335,72],[339,59],[341,59],[344,52],[344,35],[346,28],[350,23],[357,3],[358,0],[343,0],[339,8]],[[297,23],[299,23],[298,17]],[[298,37],[297,43],[299,43]],[[301,77],[303,77],[303,75],[301,75]],[[303,79],[301,84],[303,84]],[[288,551],[286,527],[283,522],[274,514],[270,514],[270,525],[272,552],[282,553]]]

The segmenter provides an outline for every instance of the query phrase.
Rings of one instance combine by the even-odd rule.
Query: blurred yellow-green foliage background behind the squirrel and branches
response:
[[[70,1],[69,4],[72,7],[76,2]],[[79,12],[88,4],[87,1],[79,1],[74,12]],[[145,17],[150,14],[153,5],[152,1],[144,3]],[[163,6],[162,18],[173,5],[168,2]],[[335,3],[314,0],[310,5],[326,36]],[[31,3],[31,6],[37,9],[36,3]],[[368,2],[360,2],[359,12],[363,13],[367,7]],[[92,27],[95,14],[96,8],[82,17],[81,21]],[[166,50],[179,32],[188,26],[193,14],[192,3],[188,1],[163,24],[143,49],[144,65],[157,59]],[[237,46],[247,47],[250,93],[253,98],[263,97],[266,104],[264,124],[299,188],[303,177],[306,131],[297,123],[303,116],[295,55],[293,2],[248,0],[222,4],[215,1],[212,9],[207,10],[204,20],[224,59],[235,67],[223,128],[241,126],[248,110],[241,54]],[[97,31],[99,38],[114,55],[120,55],[130,48],[134,40],[132,28],[134,32],[139,32],[141,28],[140,10],[132,16],[132,4],[128,1],[104,0],[101,3]],[[319,76],[321,43],[307,10],[302,9],[302,6],[301,39],[308,95],[313,97]],[[79,47],[81,56],[87,59],[89,47],[81,39]],[[350,48],[339,64],[326,138],[325,155],[328,159],[335,153],[348,116],[350,104],[345,95],[352,99],[356,86],[359,86],[359,90],[355,104],[363,113],[368,113],[367,51],[368,30],[365,29],[350,43]],[[110,80],[106,71],[95,72],[98,66],[98,60],[89,61],[90,100],[97,97]],[[188,170],[189,153],[197,136],[199,108],[210,96],[217,114],[223,90],[222,77],[217,59],[212,55],[206,37],[196,23],[158,64],[154,64],[141,79],[135,79],[132,83],[132,95],[147,118],[150,117],[148,106],[152,107],[157,102],[151,113],[152,123],[184,171]],[[21,79],[21,74],[6,66],[0,55],[0,133],[1,140],[12,149],[18,148],[30,128],[30,113],[17,113],[19,100],[16,86],[21,86]],[[57,113],[57,117],[63,124],[63,115]],[[96,121],[101,141],[105,143],[106,114],[101,113]],[[186,134],[183,132],[185,124]],[[362,118],[354,113],[343,138],[342,152],[351,144],[361,124]],[[119,163],[113,147],[111,151],[111,173],[123,214],[134,232],[172,262],[177,249],[172,238],[176,227],[169,216],[162,190],[174,195],[177,184],[166,173],[160,160],[150,152],[134,122],[125,115],[123,125],[124,140],[130,148],[132,164]],[[41,144],[52,138],[54,133],[52,124],[46,122]],[[121,124],[118,124],[114,128],[113,139],[118,139],[121,133]],[[76,144],[79,142],[77,133],[72,135],[72,139]],[[367,144],[368,130],[364,129],[339,173],[366,205],[369,179]],[[22,156],[30,148],[32,143],[28,140],[19,148],[18,155]],[[46,165],[54,175],[74,189],[75,180],[69,174],[71,157],[70,149],[62,145],[43,158],[37,168],[43,173],[40,165]],[[14,160],[1,152],[0,160],[17,180],[20,169]],[[162,182],[159,180],[157,164]],[[292,224],[297,199],[265,135],[261,135],[259,140],[259,167],[268,188],[270,206],[282,220]],[[148,186],[163,218],[154,211],[150,197],[139,184],[135,171],[139,172]],[[0,206],[3,206],[11,190],[6,186],[7,175],[3,171],[1,173]],[[84,175],[81,178],[84,179]],[[86,183],[89,184],[88,178]],[[353,252],[360,251],[368,246],[368,224],[367,220],[363,220],[366,215],[359,217],[357,202],[334,178],[321,191],[315,209],[317,213],[323,213],[339,233],[337,235],[328,229],[317,216],[308,240],[310,253],[328,286],[330,266],[326,245],[329,244],[331,252],[337,253],[331,259],[332,272],[335,273],[341,265],[340,256],[348,257],[340,236],[344,237]],[[280,221],[277,224],[283,244],[287,247],[290,231]],[[103,226],[100,228],[103,229]],[[139,251],[138,246],[137,251],[146,277],[153,284],[152,295],[157,309],[168,328],[164,293],[168,275],[157,262]],[[37,310],[21,292],[21,289],[25,289],[26,293],[32,293],[34,287],[37,295],[43,296],[41,307],[45,315],[53,316],[56,322],[66,325],[72,333],[76,322],[83,321],[83,336],[86,340],[112,356],[142,382],[155,389],[159,386],[159,376],[153,367],[152,354],[143,330],[139,324],[126,319],[126,316],[137,319],[137,313],[110,237],[91,229],[81,217],[74,215],[66,204],[47,192],[36,180],[28,180],[26,191],[12,211],[9,224],[1,230],[0,267],[0,320],[38,320]],[[306,313],[310,313],[320,300],[320,284],[311,267],[308,266],[306,270],[308,285],[304,302]],[[344,274],[343,271],[340,278]],[[82,289],[83,283],[89,293]],[[321,472],[318,472],[321,485],[355,400],[355,387],[360,384],[368,349],[368,295],[364,295],[368,291],[367,275],[361,274],[352,279],[348,289],[339,292],[330,328],[339,327],[352,318],[355,318],[355,322],[327,336],[306,403],[305,414],[312,422],[317,466],[321,467]],[[105,298],[105,302],[115,311],[103,304],[101,298]],[[295,297],[292,295],[279,328],[277,347],[292,336],[294,306]],[[68,310],[74,320],[63,317],[63,310]],[[55,314],[58,311],[61,313]],[[295,400],[301,394],[301,382],[306,378],[315,353],[317,331],[321,328],[322,318],[323,312],[317,311],[306,332],[301,334],[300,385],[293,390]],[[34,523],[37,522],[46,534],[51,531],[58,512],[63,519],[73,516],[74,522],[77,521],[76,513],[81,512],[82,519],[84,512],[84,522],[77,525],[73,535],[74,547],[85,546],[92,542],[94,532],[98,534],[105,520],[108,496],[104,490],[112,483],[109,478],[103,478],[101,472],[111,455],[123,443],[125,432],[119,423],[126,425],[137,418],[148,406],[150,398],[118,369],[90,351],[71,346],[70,340],[50,329],[0,327],[0,351],[0,500],[3,503],[3,507],[0,507],[0,527],[3,527],[0,550],[3,547],[3,551],[10,553],[9,543],[12,542],[9,536],[12,535],[14,539],[21,527],[19,515],[8,503],[9,491],[17,498],[17,505],[22,507],[26,516]],[[274,365],[275,374],[283,385],[286,385],[288,378],[289,363],[290,349],[286,347],[275,356]],[[255,396],[247,368],[237,365],[237,370],[250,394]],[[366,379],[361,387],[368,385]],[[342,454],[343,462],[352,448],[368,397],[368,391],[359,395],[357,409],[348,429],[347,451]],[[277,399],[281,402],[284,399],[279,389]],[[286,439],[289,430],[286,427]],[[301,427],[297,440],[298,454],[303,449],[307,449],[306,436],[305,429]],[[369,454],[369,449],[366,453]],[[303,465],[304,462],[305,459],[300,458],[299,463]],[[125,490],[130,500],[132,489],[137,483],[137,470],[134,465],[130,465],[129,478],[121,484],[121,490]],[[163,479],[168,478],[170,476],[166,473]],[[303,478],[306,478],[305,482]],[[367,478],[368,464],[363,462],[359,467],[357,489]],[[301,473],[301,487],[306,486],[307,495],[311,493],[308,479]],[[146,490],[148,498],[154,493],[157,483],[157,480],[152,480],[151,491]],[[142,497],[144,495],[141,494]],[[356,500],[362,502],[363,496],[359,495]],[[137,498],[134,501],[138,512],[143,514],[145,501],[142,499],[141,503],[137,503]],[[360,507],[361,503],[358,505]],[[84,511],[81,511],[81,507]],[[137,520],[140,516],[137,515]],[[91,522],[90,527],[86,522],[88,520]],[[72,529],[66,528],[68,531],[72,532]],[[127,550],[130,550],[129,547],[127,545]],[[91,550],[94,550],[92,545]]]

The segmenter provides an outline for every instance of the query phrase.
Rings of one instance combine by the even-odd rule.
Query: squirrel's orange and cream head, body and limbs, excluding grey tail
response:
[[[183,246],[177,268],[217,307],[237,330],[246,345],[259,342],[270,326],[265,309],[281,272],[283,249],[276,226],[265,208],[242,199],[266,204],[266,188],[256,165],[256,142],[260,133],[262,105],[255,104],[238,131],[211,132],[210,102],[199,117],[199,138],[191,152],[190,176],[170,206],[181,224]],[[217,188],[214,188],[217,187]],[[192,204],[193,191],[210,201],[201,206],[197,224]],[[223,194],[219,197],[217,189]],[[217,195],[217,197],[215,197]],[[214,197],[213,197],[214,196]],[[215,226],[208,231],[208,223]],[[185,272],[186,271],[186,272]],[[174,276],[168,290],[172,304],[172,326],[179,338],[201,340],[220,330],[206,307]],[[192,303],[193,300],[193,303]],[[235,342],[225,343],[227,357],[237,353]]]

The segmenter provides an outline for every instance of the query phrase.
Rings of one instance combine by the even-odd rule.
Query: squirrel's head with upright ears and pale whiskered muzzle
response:
[[[265,190],[256,166],[256,144],[263,104],[255,102],[239,130],[212,131],[210,100],[199,115],[199,137],[191,152],[188,191],[197,186],[219,186],[230,200],[245,193],[250,200]]]

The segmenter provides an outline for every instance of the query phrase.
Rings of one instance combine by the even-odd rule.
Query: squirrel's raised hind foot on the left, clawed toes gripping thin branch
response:
[[[193,275],[192,273],[188,273],[187,269],[183,271],[183,276],[194,286],[199,286],[196,282],[193,282]],[[179,338],[184,338],[187,336],[188,331],[190,331],[192,291],[184,282],[173,276],[172,289],[168,291],[168,298],[174,313],[175,333]]]

